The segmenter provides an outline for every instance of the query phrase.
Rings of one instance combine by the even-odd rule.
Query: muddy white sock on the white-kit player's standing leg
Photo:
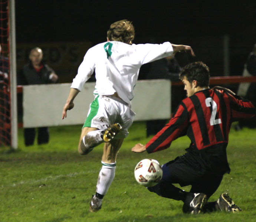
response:
[[[99,172],[98,182],[96,185],[96,192],[98,194],[105,195],[115,177],[116,162],[112,164],[106,164],[101,161],[101,163],[102,168]]]

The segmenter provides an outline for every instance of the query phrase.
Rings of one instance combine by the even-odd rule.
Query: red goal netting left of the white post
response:
[[[0,0],[0,146],[11,144],[8,6],[8,0]]]

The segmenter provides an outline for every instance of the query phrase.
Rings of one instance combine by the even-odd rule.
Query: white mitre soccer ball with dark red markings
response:
[[[163,176],[163,170],[154,159],[142,159],[135,166],[134,176],[136,181],[142,186],[154,186]]]

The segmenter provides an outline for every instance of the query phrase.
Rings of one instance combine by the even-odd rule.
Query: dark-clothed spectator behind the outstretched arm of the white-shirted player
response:
[[[169,79],[171,81],[179,81],[179,73],[181,71],[181,67],[178,64],[178,61],[175,58],[175,55],[170,55],[168,57],[162,58],[160,60],[154,61],[149,64],[149,70],[147,73],[147,79]],[[182,86],[180,87],[181,90]],[[171,107],[172,111],[173,108],[176,107],[180,100],[183,98],[180,98],[179,96],[176,96],[176,88],[171,89]],[[181,95],[181,94],[178,94]],[[177,100],[177,99],[178,100]],[[176,102],[178,101],[178,102]],[[177,103],[177,104],[176,104]],[[175,105],[175,106],[174,106]],[[160,131],[164,125],[166,124],[167,120],[148,120],[146,121],[147,125],[147,137],[150,135],[157,134],[158,131]]]

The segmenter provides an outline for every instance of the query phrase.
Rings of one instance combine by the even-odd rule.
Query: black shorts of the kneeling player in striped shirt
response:
[[[202,168],[200,164],[189,164],[183,156],[162,166],[163,178],[161,182],[168,181],[180,186],[191,185],[190,192],[204,193],[209,198],[219,187],[223,175],[213,174],[209,169]]]

